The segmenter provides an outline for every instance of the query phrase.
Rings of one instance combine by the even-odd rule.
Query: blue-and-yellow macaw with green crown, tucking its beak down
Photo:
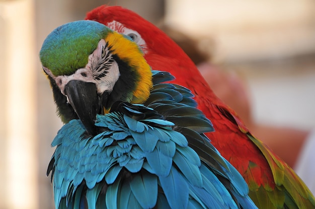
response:
[[[65,125],[48,165],[56,208],[257,208],[213,147],[211,122],[128,36],[76,21],[40,60]]]

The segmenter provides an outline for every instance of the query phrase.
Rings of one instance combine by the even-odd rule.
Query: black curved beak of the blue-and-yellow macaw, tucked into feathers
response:
[[[100,112],[101,108],[95,83],[70,80],[65,85],[64,92],[88,133],[95,136],[97,134],[96,114]]]

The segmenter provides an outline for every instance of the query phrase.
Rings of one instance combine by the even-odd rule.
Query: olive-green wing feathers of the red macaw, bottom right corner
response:
[[[266,184],[264,187],[260,187],[256,194],[251,192],[251,197],[257,196],[259,202],[262,202],[261,205],[266,205],[266,208],[267,206],[268,208],[314,208],[315,198],[313,194],[292,168],[269,149],[266,149],[261,141],[251,135],[248,137],[266,157],[275,181],[274,187]],[[267,199],[270,201],[266,201]]]

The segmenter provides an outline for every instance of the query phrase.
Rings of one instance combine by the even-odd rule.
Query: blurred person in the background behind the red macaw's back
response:
[[[213,92],[241,117],[251,133],[268,145],[302,178],[315,193],[315,131],[257,123],[246,82],[235,72],[226,72],[211,63],[211,54],[198,48],[198,41],[171,27],[164,30],[192,59]]]

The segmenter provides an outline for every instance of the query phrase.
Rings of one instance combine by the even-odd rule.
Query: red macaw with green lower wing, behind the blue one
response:
[[[131,37],[154,70],[171,72],[172,83],[189,88],[214,132],[206,133],[244,177],[250,197],[259,208],[314,208],[315,200],[296,173],[264,143],[255,138],[238,115],[211,90],[185,52],[163,31],[136,13],[119,6],[100,6],[86,20],[102,23]]]

